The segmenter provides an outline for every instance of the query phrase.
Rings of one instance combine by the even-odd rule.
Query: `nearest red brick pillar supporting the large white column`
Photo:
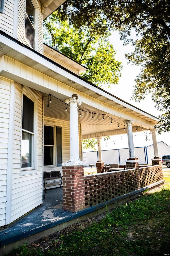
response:
[[[63,166],[63,210],[78,212],[85,208],[84,167]]]

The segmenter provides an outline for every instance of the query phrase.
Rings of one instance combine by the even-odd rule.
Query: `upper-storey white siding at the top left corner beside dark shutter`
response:
[[[3,13],[0,13],[0,28],[10,36],[13,36],[14,27],[14,0],[5,0]]]

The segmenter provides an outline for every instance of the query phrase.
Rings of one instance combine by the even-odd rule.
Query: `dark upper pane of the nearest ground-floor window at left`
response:
[[[34,102],[23,95],[22,129],[33,133]]]

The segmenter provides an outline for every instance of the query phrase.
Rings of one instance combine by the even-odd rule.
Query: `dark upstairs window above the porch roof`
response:
[[[32,5],[31,0],[26,0],[25,9],[25,37],[29,44],[35,49],[35,8]]]

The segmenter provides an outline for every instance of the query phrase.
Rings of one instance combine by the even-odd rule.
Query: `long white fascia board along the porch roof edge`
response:
[[[36,53],[36,52],[31,51],[30,49],[24,47],[24,45],[21,46],[20,44],[16,43],[15,41],[11,41],[11,39],[9,39],[3,35],[1,35],[1,42],[6,44],[7,46],[11,47],[15,51],[22,53],[24,56],[27,56],[30,59],[51,69],[52,71],[62,75],[63,77],[66,77],[66,78],[70,79],[71,81],[74,81],[75,83],[82,85],[83,87],[86,87],[87,89],[89,89],[97,94],[100,94],[101,96],[104,96],[105,98],[108,98],[109,100],[112,100],[112,101],[124,106],[125,108],[129,108],[129,109],[131,109],[137,113],[140,113],[148,118],[159,121],[159,119],[157,117],[154,117],[153,115],[148,114],[148,113],[144,112],[143,110],[136,108],[135,106],[129,104],[128,102],[122,101],[121,99],[115,97],[114,95],[110,95],[109,93],[107,93],[106,91],[104,91],[102,89],[96,88],[95,86],[91,85],[87,81],[75,76],[73,73],[70,73],[61,67],[58,67],[57,63],[54,64],[50,60],[46,59],[44,56],[41,56],[39,53]],[[12,46],[11,46],[11,42],[12,42]]]

